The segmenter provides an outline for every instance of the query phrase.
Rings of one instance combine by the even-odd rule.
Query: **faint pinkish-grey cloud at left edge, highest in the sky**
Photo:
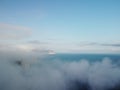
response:
[[[19,40],[31,36],[27,27],[0,23],[0,40]]]

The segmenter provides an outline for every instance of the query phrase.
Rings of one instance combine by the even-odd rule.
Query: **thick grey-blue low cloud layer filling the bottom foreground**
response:
[[[115,90],[120,85],[119,62],[113,63],[108,58],[64,62],[41,57],[33,53],[2,52],[0,90]],[[23,65],[14,63],[20,58]]]

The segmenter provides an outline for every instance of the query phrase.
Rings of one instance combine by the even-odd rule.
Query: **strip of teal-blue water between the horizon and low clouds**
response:
[[[109,58],[112,61],[119,61],[119,54],[55,54],[49,55],[46,59],[49,60],[62,60],[62,61],[79,61],[79,60],[88,60],[88,61],[100,61],[104,58]]]

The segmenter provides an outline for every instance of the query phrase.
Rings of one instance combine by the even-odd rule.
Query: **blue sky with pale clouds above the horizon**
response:
[[[0,0],[0,47],[120,53],[119,15],[119,0]]]

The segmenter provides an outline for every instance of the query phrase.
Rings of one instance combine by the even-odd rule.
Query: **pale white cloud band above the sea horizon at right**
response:
[[[68,53],[120,53],[119,42],[80,42],[76,45],[69,44],[64,48],[66,49]]]

